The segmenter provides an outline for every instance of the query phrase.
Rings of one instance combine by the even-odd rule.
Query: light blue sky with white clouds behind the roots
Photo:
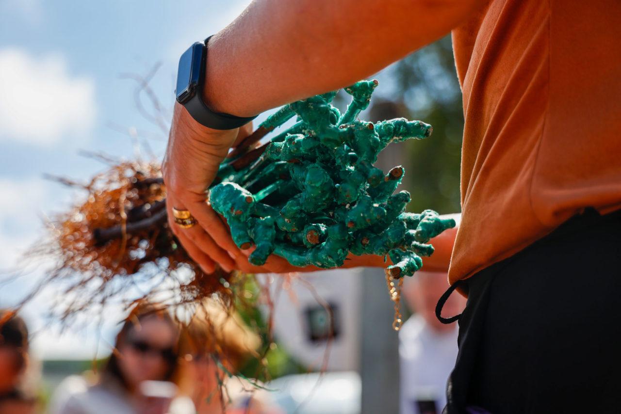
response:
[[[44,174],[86,180],[105,166],[79,151],[131,159],[136,135],[147,137],[161,158],[166,134],[139,114],[127,74],[160,65],[151,84],[170,114],[181,53],[225,27],[248,2],[0,0],[1,272],[30,264],[22,253],[44,234],[44,218],[76,196]],[[45,265],[1,284],[0,307],[15,304],[44,271]],[[61,333],[41,316],[54,294],[43,292],[23,312],[35,355],[107,353],[122,311],[106,314],[101,330]]]

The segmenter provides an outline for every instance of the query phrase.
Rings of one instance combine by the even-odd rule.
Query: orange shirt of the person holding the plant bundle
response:
[[[584,207],[621,208],[621,1],[491,0],[453,48],[465,127],[451,283]]]

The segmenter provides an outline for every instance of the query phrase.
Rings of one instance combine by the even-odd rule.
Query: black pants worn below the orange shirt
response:
[[[621,413],[621,212],[587,210],[462,283],[445,413]]]

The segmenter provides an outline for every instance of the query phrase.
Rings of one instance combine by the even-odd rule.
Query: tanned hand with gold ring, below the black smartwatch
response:
[[[196,122],[175,104],[162,173],[166,184],[166,209],[171,230],[202,270],[211,273],[215,264],[225,271],[237,268],[235,258],[244,256],[233,243],[229,228],[206,202],[206,191],[229,148],[252,132],[252,124],[233,130],[213,130]],[[197,224],[181,228],[172,209],[189,210]],[[244,258],[245,259],[245,258]]]

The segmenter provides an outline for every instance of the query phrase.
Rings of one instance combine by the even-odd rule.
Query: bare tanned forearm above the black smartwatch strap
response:
[[[204,99],[251,116],[348,86],[433,42],[478,0],[255,0],[209,41]]]

